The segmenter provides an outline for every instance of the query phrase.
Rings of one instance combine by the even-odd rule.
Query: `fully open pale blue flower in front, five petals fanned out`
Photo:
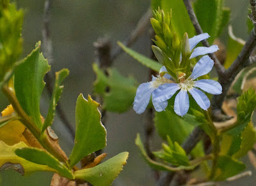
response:
[[[186,74],[181,73],[179,75],[179,83],[164,83],[154,90],[152,92],[153,102],[162,103],[167,101],[177,90],[180,90],[174,101],[174,111],[177,115],[183,116],[188,112],[188,92],[202,109],[207,110],[211,103],[204,92],[196,88],[200,88],[210,94],[221,94],[222,87],[220,83],[214,80],[195,80],[209,73],[213,65],[212,59],[205,55],[196,63],[193,72],[188,78],[186,78]]]

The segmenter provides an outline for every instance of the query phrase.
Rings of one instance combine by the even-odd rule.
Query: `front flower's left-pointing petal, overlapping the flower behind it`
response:
[[[165,83],[154,90],[152,97],[156,102],[163,102],[170,99],[179,89],[180,86],[177,83]]]

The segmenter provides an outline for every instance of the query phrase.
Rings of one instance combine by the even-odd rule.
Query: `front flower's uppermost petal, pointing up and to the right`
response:
[[[195,80],[196,78],[206,75],[211,71],[212,67],[214,65],[213,60],[208,56],[203,56],[195,65],[192,74],[190,75],[190,78],[192,80]]]

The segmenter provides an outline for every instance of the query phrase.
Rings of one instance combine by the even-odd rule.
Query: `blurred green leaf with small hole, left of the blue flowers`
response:
[[[118,113],[131,108],[138,87],[136,80],[132,77],[125,78],[113,68],[108,69],[107,77],[97,64],[93,64],[93,70],[97,74],[94,92],[103,96],[103,108]],[[106,92],[107,87],[109,92]]]

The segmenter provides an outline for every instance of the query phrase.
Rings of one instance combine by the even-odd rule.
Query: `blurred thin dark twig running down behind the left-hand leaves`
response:
[[[49,64],[52,62],[52,41],[50,37],[50,21],[51,21],[51,7],[52,7],[52,0],[46,0],[45,6],[44,6],[44,28],[42,30],[42,36],[43,36],[43,43],[42,43],[42,50],[44,51],[45,57],[47,57]],[[53,77],[51,73],[47,73],[45,75],[45,82],[46,82],[46,88],[49,96],[52,96],[52,90],[53,90]],[[56,110],[58,112],[58,115],[60,116],[61,121],[67,127],[68,131],[70,132],[72,138],[75,137],[75,131],[74,127],[70,122],[68,122],[67,116],[65,115],[65,112],[61,106],[61,103],[59,102],[56,106]]]

